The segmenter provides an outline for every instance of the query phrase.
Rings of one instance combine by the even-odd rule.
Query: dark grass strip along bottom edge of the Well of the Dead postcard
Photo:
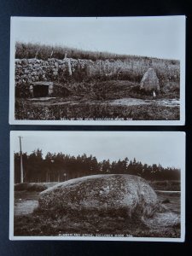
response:
[[[64,99],[65,101],[65,99]],[[75,103],[75,102],[74,102]],[[77,104],[64,105],[32,105],[26,100],[16,100],[15,119],[32,120],[177,120],[179,107],[166,107],[155,104],[138,106],[112,106],[106,104]]]

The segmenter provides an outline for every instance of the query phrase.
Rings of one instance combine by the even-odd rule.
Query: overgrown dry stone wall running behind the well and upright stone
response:
[[[125,79],[140,83],[144,73],[153,67],[160,79],[160,85],[166,80],[179,81],[179,65],[165,64],[163,61],[154,60],[151,64],[144,58],[141,60],[83,60],[55,58],[47,61],[38,59],[15,60],[15,85],[32,84],[38,81],[65,82],[68,77],[81,82],[84,78]]]

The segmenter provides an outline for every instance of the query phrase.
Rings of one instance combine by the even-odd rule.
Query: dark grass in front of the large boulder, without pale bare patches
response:
[[[16,192],[20,193],[20,192]],[[22,192],[24,193],[24,192]],[[32,192],[31,192],[32,193]],[[34,193],[34,192],[33,192]],[[37,194],[35,195],[37,196]],[[165,195],[158,195],[160,200]],[[63,212],[36,209],[26,215],[15,216],[15,236],[133,236],[133,237],[179,237],[180,224],[172,223],[172,211],[180,212],[180,195],[168,194],[171,203],[166,204],[168,212],[157,215],[154,221],[143,222],[138,218],[127,218],[125,212]],[[37,197],[36,197],[37,198]],[[162,223],[165,222],[166,226]]]

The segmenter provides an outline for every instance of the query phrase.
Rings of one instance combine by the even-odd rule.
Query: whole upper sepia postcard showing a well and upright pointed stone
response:
[[[11,125],[184,125],[185,16],[12,17]]]

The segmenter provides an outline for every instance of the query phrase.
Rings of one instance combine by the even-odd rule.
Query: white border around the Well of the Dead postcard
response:
[[[10,19],[10,62],[9,62],[9,124],[10,125],[184,125],[185,124],[185,39],[186,16],[143,16],[119,17],[121,19],[167,19],[175,17],[181,20],[183,34],[180,58],[180,120],[17,120],[15,119],[15,19],[16,20],[63,20],[77,19],[79,17],[11,17]],[[104,17],[84,17],[81,19],[103,19]],[[105,17],[108,20],[118,17]]]

